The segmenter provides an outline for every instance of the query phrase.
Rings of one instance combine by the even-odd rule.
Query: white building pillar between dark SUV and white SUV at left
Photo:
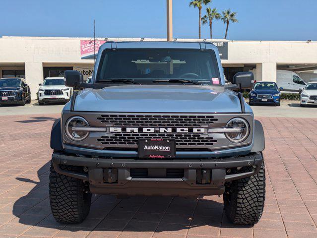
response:
[[[25,80],[30,86],[31,98],[36,99],[39,83],[43,83],[43,63],[25,62]]]

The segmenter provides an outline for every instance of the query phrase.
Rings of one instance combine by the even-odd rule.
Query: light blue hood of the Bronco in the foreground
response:
[[[198,85],[122,85],[84,89],[74,111],[137,113],[241,113],[237,94]]]

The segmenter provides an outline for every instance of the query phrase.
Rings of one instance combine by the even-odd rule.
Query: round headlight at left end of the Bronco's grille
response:
[[[65,125],[65,131],[69,139],[74,141],[80,141],[88,136],[89,131],[81,131],[74,128],[81,126],[89,126],[87,120],[82,117],[72,117],[67,120]]]

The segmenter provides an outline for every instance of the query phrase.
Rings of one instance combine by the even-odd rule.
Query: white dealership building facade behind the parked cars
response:
[[[166,41],[166,39],[97,38],[102,41]],[[45,77],[63,76],[64,70],[92,74],[93,60],[83,59],[81,41],[90,38],[5,37],[0,38],[0,77],[24,77],[36,98]],[[175,39],[176,41],[201,41]],[[210,40],[205,40],[210,41]],[[222,64],[231,80],[238,71],[256,69],[257,81],[276,81],[276,70],[313,73],[317,70],[317,42],[212,40],[221,47]]]

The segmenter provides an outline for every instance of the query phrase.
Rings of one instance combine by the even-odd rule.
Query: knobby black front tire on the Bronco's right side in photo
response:
[[[239,173],[250,172],[253,169],[253,167],[244,167]],[[223,200],[226,216],[232,223],[240,225],[257,223],[262,216],[265,200],[264,162],[257,175],[226,184]]]

